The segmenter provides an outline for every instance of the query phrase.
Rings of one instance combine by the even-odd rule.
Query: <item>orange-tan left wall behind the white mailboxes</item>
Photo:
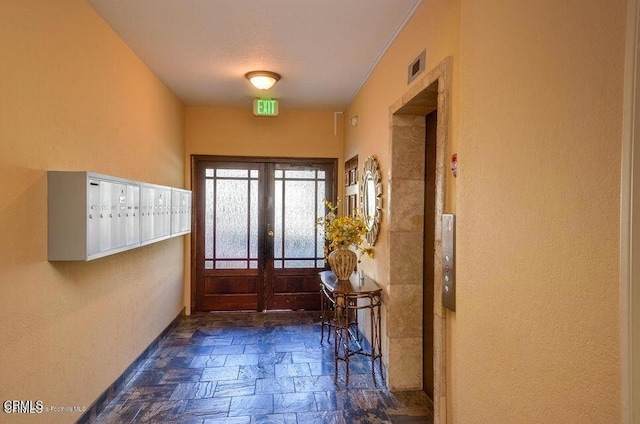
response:
[[[47,262],[46,171],[182,186],[184,110],[84,1],[6,0],[0,22],[0,399],[88,407],[182,309],[183,242]]]

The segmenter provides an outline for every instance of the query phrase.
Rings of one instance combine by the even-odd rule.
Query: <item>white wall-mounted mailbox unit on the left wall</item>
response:
[[[50,261],[89,261],[191,230],[188,190],[175,189],[185,196],[174,233],[171,187],[67,171],[49,171],[47,183]]]

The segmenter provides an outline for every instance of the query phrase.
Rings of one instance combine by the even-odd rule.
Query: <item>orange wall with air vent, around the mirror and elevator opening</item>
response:
[[[407,85],[407,67],[426,49],[425,71],[436,67],[448,56],[453,56],[454,67],[458,61],[459,2],[451,0],[425,0],[407,23],[396,41],[382,57],[367,82],[345,110],[345,158],[355,154],[359,158],[359,174],[368,156],[378,160],[386,189],[390,173],[389,163],[389,107],[410,87]],[[457,133],[457,74],[454,73],[453,104],[451,110],[450,152],[455,152]],[[350,125],[351,118],[358,117],[358,125]],[[446,212],[454,212],[455,181],[447,181]],[[388,204],[383,202],[383,214],[388,215]],[[365,263],[367,273],[380,282],[389,276],[388,221],[383,218],[379,239],[376,242],[376,260]]]

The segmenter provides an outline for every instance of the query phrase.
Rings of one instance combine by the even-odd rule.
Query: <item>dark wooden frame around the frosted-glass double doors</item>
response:
[[[315,158],[315,157],[270,157],[270,156],[224,156],[224,155],[191,155],[191,188],[193,190],[193,205],[191,210],[193,213],[191,214],[191,226],[192,226],[192,237],[191,237],[191,314],[196,313],[196,305],[197,305],[197,297],[196,297],[196,285],[197,285],[197,256],[196,256],[196,244],[197,244],[197,234],[199,231],[198,226],[198,208],[200,207],[200,199],[198,193],[195,192],[196,189],[196,164],[197,162],[261,162],[261,163],[288,163],[294,165],[308,165],[309,163],[317,163],[317,164],[329,164],[332,165],[333,172],[333,190],[335,195],[338,194],[338,158]]]

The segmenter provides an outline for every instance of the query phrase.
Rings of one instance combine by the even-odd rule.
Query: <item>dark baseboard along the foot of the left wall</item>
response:
[[[95,421],[98,415],[104,410],[104,408],[111,402],[119,393],[120,390],[129,382],[131,377],[138,371],[140,365],[158,348],[162,339],[176,326],[178,320],[185,314],[185,308],[182,308],[180,313],[169,323],[167,328],[162,330],[160,335],[156,337],[149,346],[124,370],[124,372],[118,377],[107,389],[102,392],[98,399],[91,404],[87,411],[76,421],[76,424],[89,424]]]

